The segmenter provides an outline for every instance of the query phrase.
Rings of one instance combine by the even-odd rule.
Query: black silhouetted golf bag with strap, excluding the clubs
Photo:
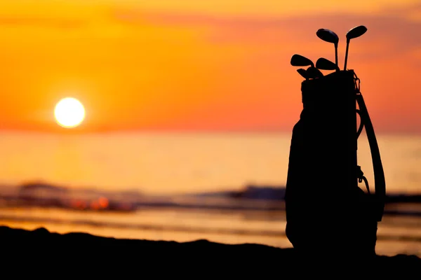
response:
[[[302,254],[373,256],[385,176],[359,78],[353,70],[335,71],[303,80],[301,90],[303,109],[293,127],[286,182],[286,235]],[[363,128],[373,160],[374,194],[357,165]]]

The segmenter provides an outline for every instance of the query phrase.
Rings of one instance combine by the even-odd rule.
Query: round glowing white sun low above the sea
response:
[[[77,127],[85,118],[85,108],[78,99],[66,97],[55,105],[54,116],[58,125],[62,127]]]

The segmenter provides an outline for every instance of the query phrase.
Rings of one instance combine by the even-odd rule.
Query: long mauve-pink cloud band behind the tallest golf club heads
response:
[[[219,44],[278,44],[309,43],[316,29],[333,29],[345,41],[346,32],[356,25],[366,25],[368,33],[361,43],[378,49],[361,59],[378,59],[389,55],[405,55],[421,47],[421,21],[413,13],[421,4],[385,8],[379,13],[318,13],[286,17],[213,16],[199,13],[146,13],[136,10],[116,10],[114,17],[129,25],[166,25],[203,30],[203,40]],[[310,42],[311,43],[311,42]]]

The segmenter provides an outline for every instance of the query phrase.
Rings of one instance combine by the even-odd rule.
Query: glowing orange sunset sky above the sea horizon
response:
[[[287,130],[302,109],[289,60],[334,60],[356,25],[349,69],[376,131],[421,132],[421,3],[409,0],[2,0],[0,128],[63,131],[62,97],[86,106],[81,131]]]

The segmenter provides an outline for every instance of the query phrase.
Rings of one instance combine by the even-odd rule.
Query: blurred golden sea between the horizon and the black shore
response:
[[[289,248],[283,193],[290,138],[281,132],[0,132],[0,225]],[[377,142],[390,200],[376,252],[421,257],[421,136],[377,134]],[[373,189],[364,133],[358,163]]]

